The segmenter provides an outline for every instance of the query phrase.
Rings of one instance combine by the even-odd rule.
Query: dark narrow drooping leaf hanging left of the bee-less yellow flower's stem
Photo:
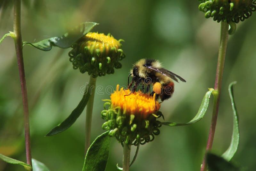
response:
[[[52,130],[50,130],[50,132],[48,132],[46,136],[51,136],[63,132],[64,130],[67,130],[73,123],[75,123],[76,119],[81,115],[90,98],[90,91],[88,89],[88,85],[85,86],[85,90],[86,91],[83,95],[82,100],[79,102],[78,106],[72,111],[72,113],[67,117],[67,119],[65,119],[56,127],[52,128]]]

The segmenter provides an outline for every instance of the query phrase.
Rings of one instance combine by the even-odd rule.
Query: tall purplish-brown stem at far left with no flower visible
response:
[[[25,70],[24,70],[23,52],[22,52],[21,28],[20,28],[20,0],[14,1],[13,32],[14,32],[13,39],[14,39],[16,56],[18,61],[19,73],[20,73],[20,85],[21,85],[21,93],[22,93],[22,101],[23,101],[26,158],[27,158],[27,164],[29,164],[32,167],[29,115],[28,115],[28,94],[27,94],[27,88],[26,88],[26,79],[25,79]]]

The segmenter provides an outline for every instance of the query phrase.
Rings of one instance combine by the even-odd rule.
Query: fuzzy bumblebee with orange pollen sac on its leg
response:
[[[129,84],[131,75],[133,75],[133,77]],[[133,93],[138,85],[142,83],[142,89],[144,90],[146,85],[146,93],[148,93],[149,85],[152,85],[153,91],[151,94],[153,95],[156,93],[156,100],[160,98],[164,101],[172,97],[174,92],[174,83],[172,80],[179,82],[177,78],[182,82],[186,82],[186,80],[180,76],[162,68],[161,63],[158,60],[140,59],[133,65],[131,74],[128,76],[128,89]]]

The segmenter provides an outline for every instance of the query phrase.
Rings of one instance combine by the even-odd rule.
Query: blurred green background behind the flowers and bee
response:
[[[23,1],[21,11],[23,41],[36,42],[62,35],[81,22],[100,23],[93,31],[111,33],[124,39],[123,67],[114,75],[99,77],[96,85],[104,88],[127,85],[132,64],[141,58],[159,59],[164,68],[187,80],[176,83],[171,99],[162,103],[165,121],[188,122],[197,113],[201,100],[214,87],[220,40],[220,23],[205,19],[198,1],[187,0],[42,0]],[[12,31],[13,9],[1,11],[0,35]],[[229,36],[218,123],[212,151],[222,154],[232,134],[232,109],[228,84],[234,87],[239,114],[240,144],[233,158],[238,166],[256,167],[256,13],[237,25]],[[72,69],[70,49],[54,47],[44,52],[23,48],[30,112],[32,157],[52,171],[81,170],[84,162],[85,111],[65,132],[44,135],[63,121],[82,98],[79,89],[88,82],[87,73]],[[20,80],[11,38],[0,45],[0,153],[26,161]],[[101,91],[104,92],[104,89]],[[102,99],[96,94],[92,118],[92,139],[104,132],[100,118]],[[199,170],[211,122],[211,105],[198,123],[183,127],[163,126],[153,142],[140,146],[130,170]],[[135,149],[132,149],[131,158]],[[106,170],[122,166],[122,147],[111,138]],[[18,171],[22,166],[0,161],[0,170]]]

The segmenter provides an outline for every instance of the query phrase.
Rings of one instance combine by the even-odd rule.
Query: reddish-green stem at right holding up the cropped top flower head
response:
[[[212,149],[215,127],[216,127],[216,123],[217,123],[217,116],[218,116],[218,110],[219,110],[219,105],[220,105],[221,83],[222,83],[225,56],[226,56],[226,50],[227,50],[227,44],[228,44],[228,27],[229,27],[229,25],[227,22],[221,21],[220,48],[219,48],[219,55],[218,55],[215,85],[214,85],[214,89],[217,90],[218,94],[217,94],[217,97],[214,97],[213,110],[212,110],[212,122],[211,122],[210,132],[209,132],[209,136],[208,136],[208,141],[207,141],[207,145],[206,145],[206,150],[205,150],[205,154],[204,154],[204,160],[203,160],[203,164],[201,167],[201,171],[205,171],[207,168],[206,153],[211,151],[211,149]]]

